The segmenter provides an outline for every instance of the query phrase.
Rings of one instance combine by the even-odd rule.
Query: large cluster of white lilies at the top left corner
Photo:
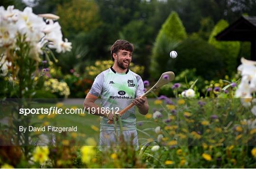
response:
[[[41,17],[40,17],[41,16]],[[53,19],[58,16],[43,14],[37,16],[32,12],[32,8],[26,7],[23,11],[9,6],[6,10],[0,7],[0,47],[16,48],[15,42],[18,34],[26,34],[26,41],[35,47],[38,53],[42,54],[41,48],[44,44],[56,49],[58,53],[71,51],[71,42],[67,39],[63,41],[61,26]],[[46,17],[46,22],[43,17]]]

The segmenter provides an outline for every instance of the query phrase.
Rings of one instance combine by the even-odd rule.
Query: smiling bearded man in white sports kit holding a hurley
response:
[[[116,116],[118,110],[124,109],[133,102],[141,114],[146,115],[148,112],[147,99],[139,98],[144,94],[143,81],[139,75],[128,69],[133,48],[133,45],[125,40],[117,40],[111,46],[114,65],[95,78],[83,103],[89,113],[103,117],[101,118],[100,146],[109,146],[118,140],[119,122],[116,126],[108,124],[108,120],[118,119]],[[99,96],[102,99],[101,108],[94,103]],[[125,140],[133,139],[133,145],[138,147],[135,107],[129,109],[119,120],[121,120]]]

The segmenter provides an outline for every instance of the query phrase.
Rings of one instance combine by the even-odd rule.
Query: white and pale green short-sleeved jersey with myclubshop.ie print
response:
[[[89,93],[97,97],[101,96],[101,107],[115,112],[123,110],[133,99],[143,95],[144,84],[141,77],[131,70],[127,69],[126,73],[121,74],[111,67],[95,78]],[[135,107],[123,114],[121,121],[123,130],[136,129]],[[114,124],[110,125],[107,122],[108,118],[101,119],[101,131],[115,130]]]

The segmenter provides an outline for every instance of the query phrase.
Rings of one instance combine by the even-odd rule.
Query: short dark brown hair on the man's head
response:
[[[117,53],[118,50],[126,50],[132,52],[134,49],[134,46],[132,43],[125,41],[125,40],[117,40],[110,48],[111,51],[111,57],[112,60],[114,61],[115,59],[113,58],[113,53]]]

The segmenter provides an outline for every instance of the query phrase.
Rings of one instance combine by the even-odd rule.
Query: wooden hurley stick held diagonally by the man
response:
[[[146,95],[152,91],[155,91],[156,89],[159,89],[160,87],[162,87],[163,85],[171,82],[174,80],[174,72],[165,72],[161,75],[161,77],[159,78],[159,80],[156,82],[156,84],[149,89],[145,94],[143,94],[140,97],[146,97]],[[132,108],[134,106],[133,103],[129,104],[126,108],[124,108],[123,110],[121,110],[119,112],[119,115],[122,116],[126,111],[128,111],[130,108]],[[108,124],[113,124],[113,121],[109,120]]]

